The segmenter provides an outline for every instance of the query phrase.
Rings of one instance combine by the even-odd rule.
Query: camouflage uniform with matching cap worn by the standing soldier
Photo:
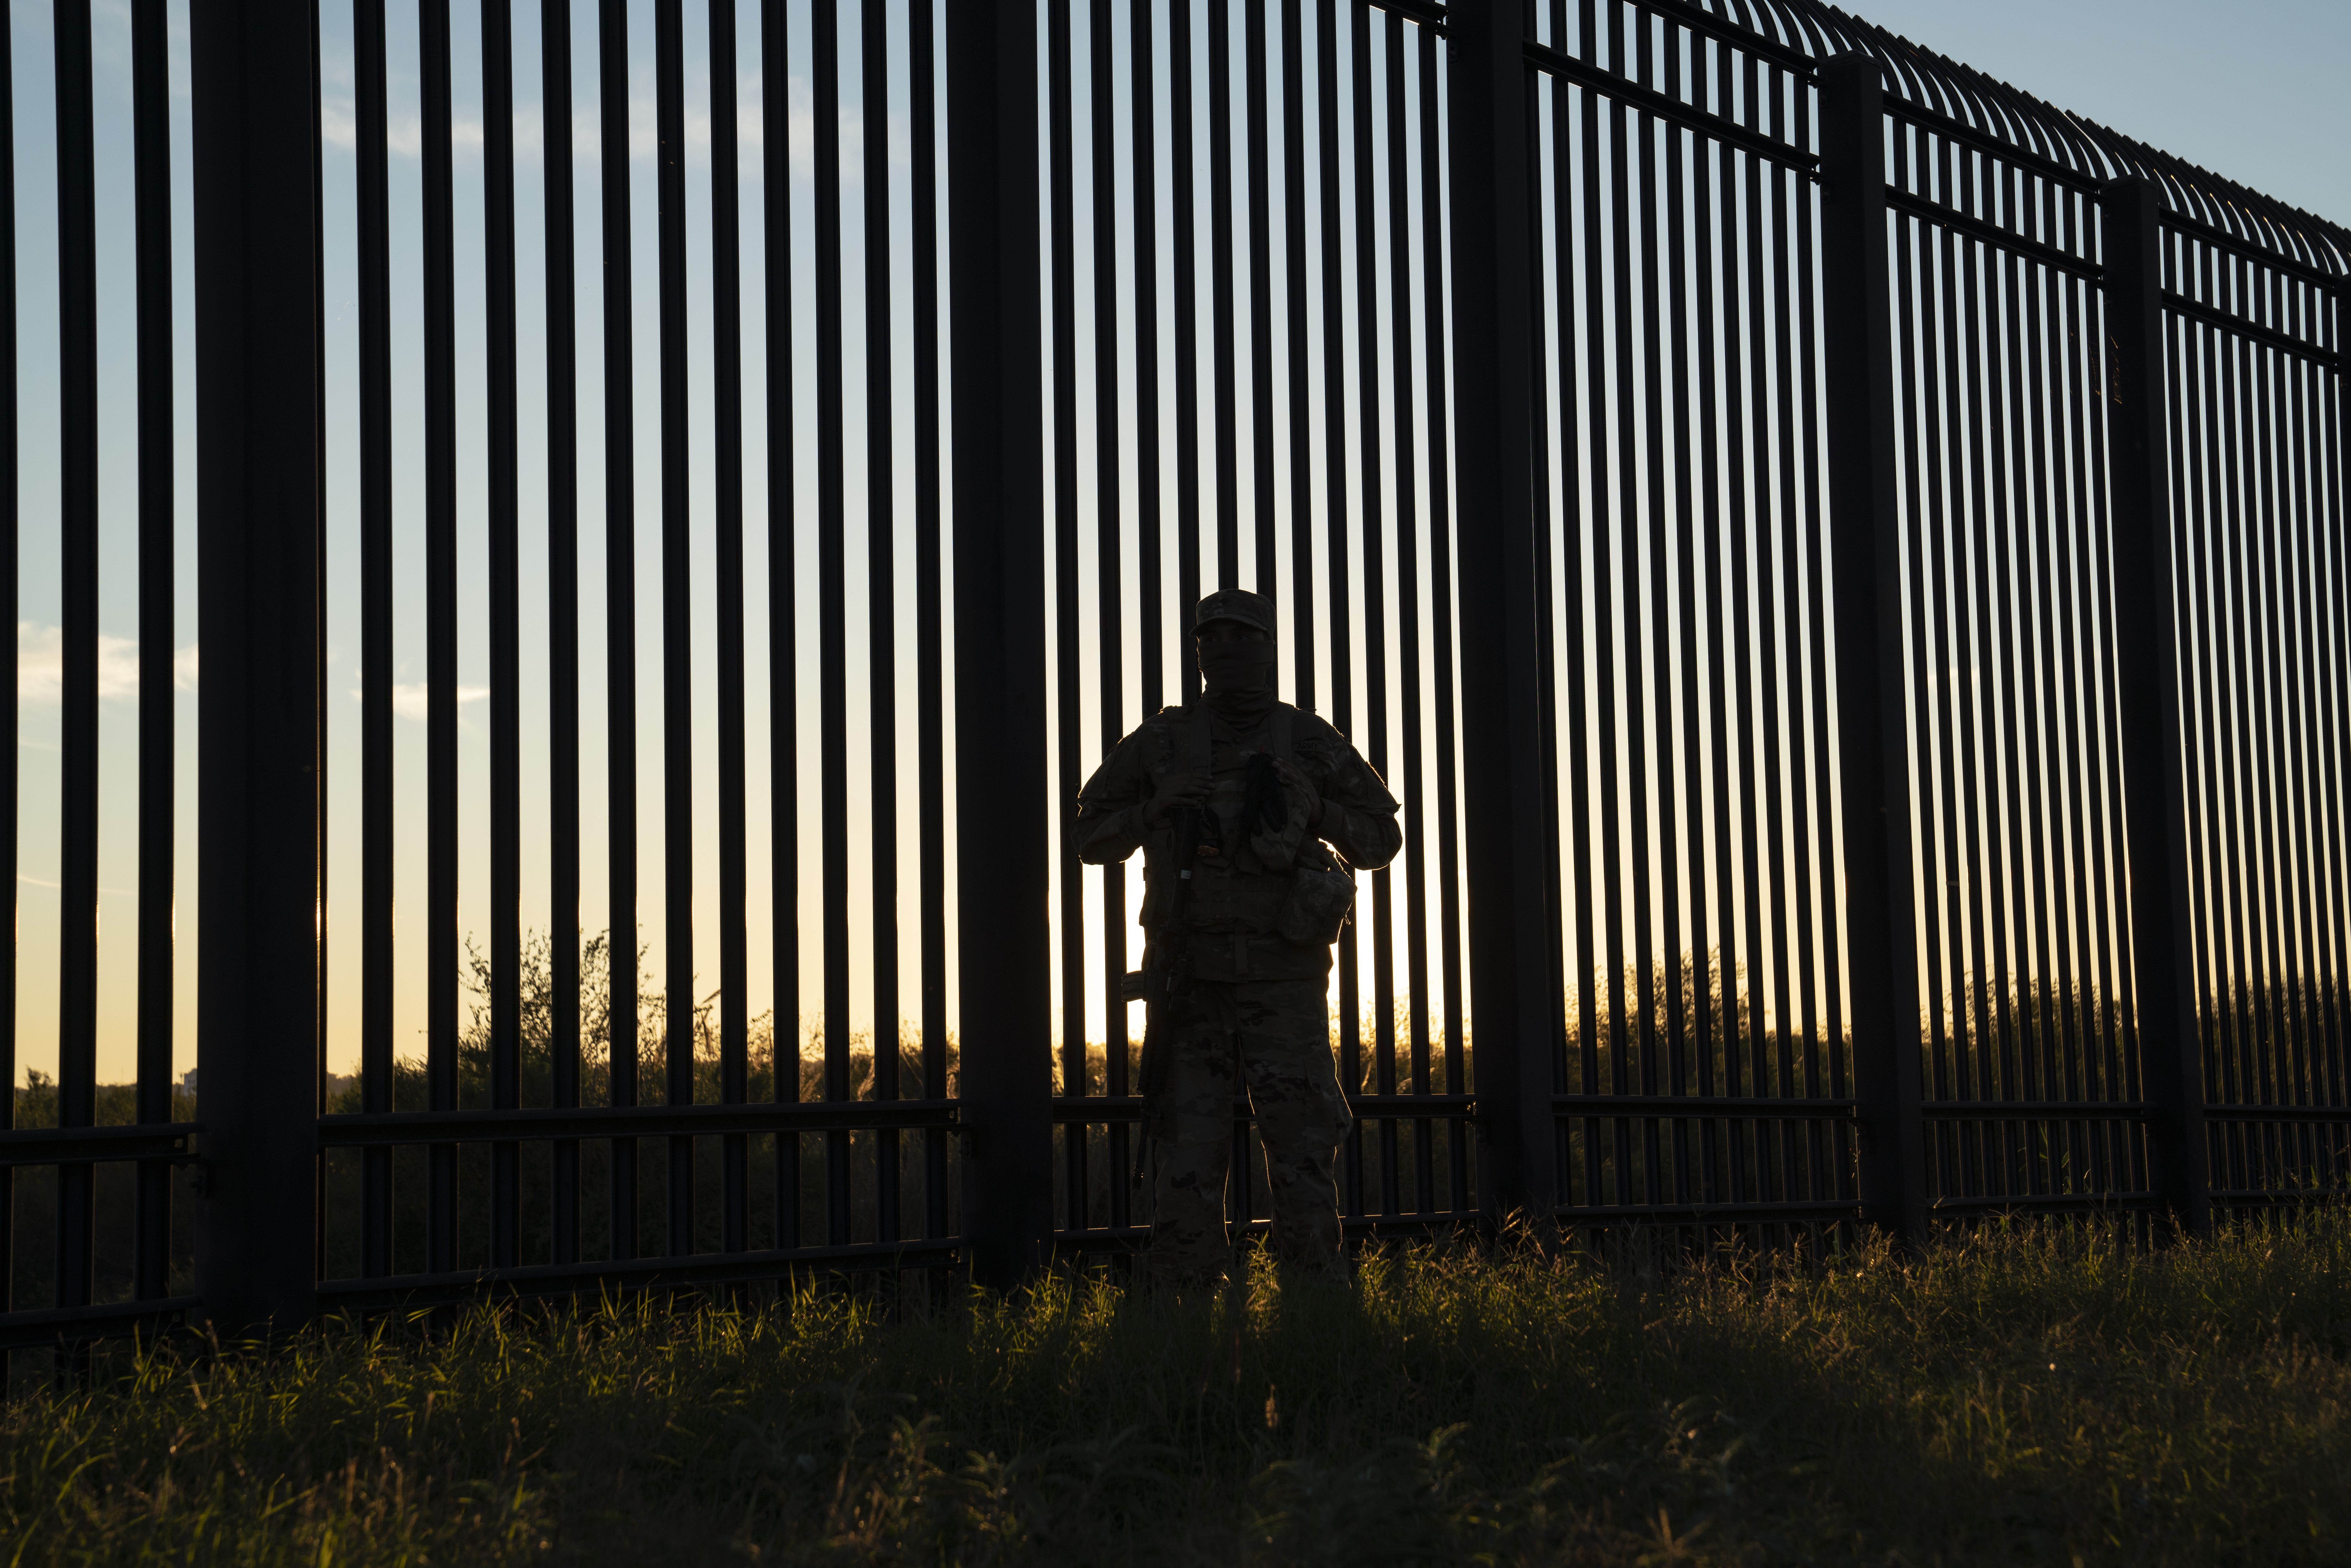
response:
[[[1225,590],[1199,604],[1197,623],[1234,618],[1272,637],[1272,604]],[[1286,940],[1284,912],[1293,879],[1375,870],[1401,846],[1396,799],[1347,738],[1312,712],[1265,703],[1262,717],[1234,722],[1194,698],[1143,722],[1103,759],[1077,797],[1077,853],[1114,865],[1145,851],[1143,924],[1154,931],[1157,900],[1173,891],[1171,825],[1145,830],[1143,811],[1168,773],[1208,759],[1204,842],[1185,907],[1192,987],[1180,1001],[1154,987],[1150,1030],[1168,1039],[1166,1093],[1150,1105],[1157,1140],[1157,1192],[1150,1265],[1154,1274],[1213,1279],[1232,1258],[1225,1237],[1225,1178],[1232,1152],[1234,1070],[1248,1086],[1272,1199],[1274,1251],[1286,1260],[1335,1267],[1340,1260],[1333,1159],[1354,1126],[1331,1060],[1331,945]],[[1277,712],[1279,710],[1279,712]],[[1251,752],[1288,752],[1314,780],[1324,816],[1307,827],[1305,799],[1284,785],[1288,818],[1279,830],[1246,832],[1244,797]],[[1324,849],[1328,844],[1331,849]],[[1335,858],[1345,856],[1345,860]],[[1342,886],[1342,884],[1340,884]],[[1291,922],[1298,924],[1295,917]],[[1168,959],[1154,943],[1152,966]]]

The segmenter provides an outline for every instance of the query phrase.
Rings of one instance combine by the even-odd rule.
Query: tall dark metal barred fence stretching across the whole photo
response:
[[[2335,223],[1815,0],[63,0],[0,136],[5,1349],[1133,1253],[1213,588],[1404,804],[1352,1239],[2351,1190]]]

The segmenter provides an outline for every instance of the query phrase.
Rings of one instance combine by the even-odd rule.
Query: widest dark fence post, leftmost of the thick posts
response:
[[[195,0],[197,1114],[205,1312],[315,1307],[322,959],[317,59],[299,0]]]

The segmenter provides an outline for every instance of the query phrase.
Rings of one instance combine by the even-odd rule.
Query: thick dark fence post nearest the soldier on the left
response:
[[[947,7],[955,813],[964,1255],[1013,1286],[1053,1229],[1037,7]],[[1072,1020],[1077,1027],[1077,1020]]]

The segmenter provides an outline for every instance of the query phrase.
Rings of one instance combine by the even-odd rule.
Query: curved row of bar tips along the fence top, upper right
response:
[[[2163,186],[2170,209],[2182,219],[2248,247],[2264,261],[2273,259],[2325,280],[2351,275],[2351,228],[2043,103],[1822,0],[1665,0],[1657,9],[1665,16],[1674,12],[1721,16],[1766,40],[1784,63],[1853,49],[1874,54],[1883,61],[1890,99],[2012,148],[2050,179],[2071,174],[2095,188],[2109,179],[2142,174]]]

